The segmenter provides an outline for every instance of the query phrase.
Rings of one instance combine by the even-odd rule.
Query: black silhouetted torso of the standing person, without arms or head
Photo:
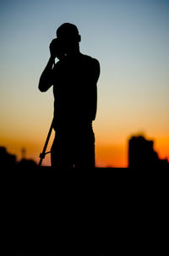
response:
[[[55,75],[56,74],[56,75]],[[59,61],[53,70],[55,125],[80,125],[88,119],[88,97],[92,81],[92,58],[79,54]]]

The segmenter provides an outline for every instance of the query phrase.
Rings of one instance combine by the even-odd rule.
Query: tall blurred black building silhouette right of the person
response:
[[[130,170],[169,170],[167,159],[159,159],[154,142],[144,136],[132,136],[128,142],[128,167]]]

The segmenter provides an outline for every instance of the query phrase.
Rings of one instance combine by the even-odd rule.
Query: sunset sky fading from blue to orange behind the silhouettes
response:
[[[0,146],[38,161],[52,121],[52,88],[38,91],[57,27],[74,23],[82,53],[101,64],[94,122],[96,164],[128,165],[143,134],[169,160],[169,1],[0,2]],[[53,137],[53,134],[52,134]],[[49,143],[49,149],[52,140]],[[50,164],[49,156],[44,164]]]

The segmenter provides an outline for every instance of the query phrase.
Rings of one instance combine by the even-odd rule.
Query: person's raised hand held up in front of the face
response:
[[[62,49],[61,43],[58,41],[57,38],[52,40],[49,48],[50,48],[50,53],[51,53],[52,59],[55,59],[56,57],[58,59],[63,58],[63,56],[64,56],[63,49]]]

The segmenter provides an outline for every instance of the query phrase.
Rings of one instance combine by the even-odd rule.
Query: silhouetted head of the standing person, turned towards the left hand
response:
[[[62,43],[65,53],[74,53],[79,51],[81,36],[79,35],[76,25],[63,23],[63,25],[57,28],[57,38]]]

